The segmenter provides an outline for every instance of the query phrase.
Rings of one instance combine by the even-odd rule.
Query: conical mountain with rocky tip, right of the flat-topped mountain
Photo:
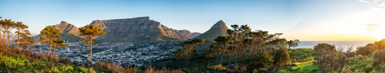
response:
[[[207,49],[209,49],[209,46],[211,45],[211,43],[214,42],[214,39],[216,37],[229,36],[227,34],[228,29],[229,28],[227,28],[226,23],[224,23],[222,20],[220,20],[217,23],[215,23],[213,25],[213,27],[211,27],[208,31],[202,33],[198,37],[195,37],[195,38],[204,38],[204,40],[205,40],[205,43],[203,45],[198,46],[196,48],[197,52],[202,53],[202,52],[206,51]]]

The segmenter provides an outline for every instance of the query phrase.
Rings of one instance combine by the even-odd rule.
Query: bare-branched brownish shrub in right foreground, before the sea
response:
[[[354,55],[352,50],[353,46],[348,46],[346,49],[339,46],[337,50],[330,49],[330,47],[318,48],[318,51],[315,51],[314,59],[320,66],[321,72],[345,73],[354,69],[349,65],[352,60],[350,57]]]

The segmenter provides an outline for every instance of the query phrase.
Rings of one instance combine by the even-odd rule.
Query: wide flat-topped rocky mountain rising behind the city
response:
[[[150,20],[150,17],[94,20],[90,25],[98,25],[107,32],[105,35],[98,36],[97,39],[102,41],[167,42],[195,37],[188,30],[168,28],[160,22]]]

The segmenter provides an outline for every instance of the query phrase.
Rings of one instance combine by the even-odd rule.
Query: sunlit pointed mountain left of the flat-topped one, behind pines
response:
[[[69,41],[69,42],[83,40],[83,38],[81,38],[81,36],[80,36],[79,28],[75,27],[72,24],[69,24],[67,22],[62,21],[62,22],[60,22],[60,24],[54,25],[54,27],[56,29],[60,30],[60,36],[62,36],[62,37],[59,39],[62,39],[64,41]],[[35,37],[32,37],[33,41],[39,42],[39,39],[42,36],[43,35],[39,34]]]

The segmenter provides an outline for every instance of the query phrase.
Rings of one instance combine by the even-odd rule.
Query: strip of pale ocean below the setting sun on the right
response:
[[[353,46],[353,49],[356,49],[358,46],[365,46],[368,43],[374,43],[375,41],[301,41],[298,44],[297,48],[313,48],[318,43],[327,43],[331,45],[335,45],[336,48],[338,46]]]

